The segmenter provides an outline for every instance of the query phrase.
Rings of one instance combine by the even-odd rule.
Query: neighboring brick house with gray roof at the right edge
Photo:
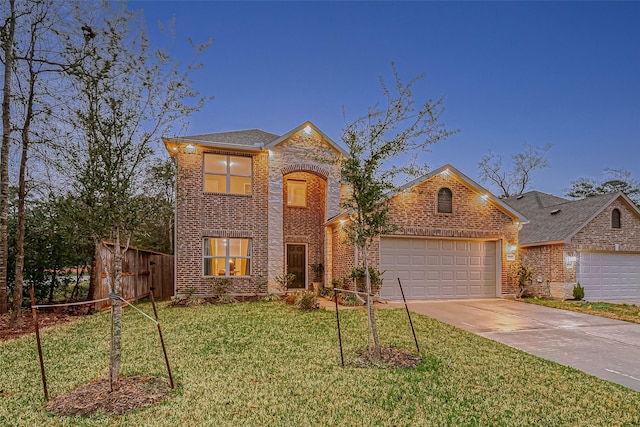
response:
[[[531,191],[505,202],[529,219],[520,258],[552,295],[572,298],[580,282],[586,299],[640,298],[640,211],[624,194],[566,200]]]

